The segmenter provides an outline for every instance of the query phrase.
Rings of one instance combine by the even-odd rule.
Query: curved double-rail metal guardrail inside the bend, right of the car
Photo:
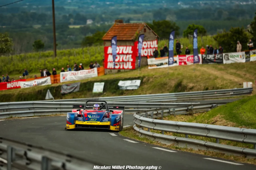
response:
[[[206,108],[206,106],[199,106],[199,108],[194,107],[193,109],[202,109],[203,107]],[[190,113],[196,112],[194,110],[192,111],[192,108],[180,108],[180,110],[186,109],[190,109]],[[177,110],[178,109],[176,109],[176,111]],[[245,155],[249,158],[256,158],[256,129],[163,120],[163,117],[166,115],[177,114],[176,111],[173,110],[173,112],[171,112],[171,110],[165,108],[136,112],[133,115],[135,118],[133,128],[141,136],[165,143],[167,145],[174,144],[178,147],[211,150],[234,155]],[[162,117],[162,120],[154,119],[156,117]],[[142,128],[138,128],[136,125],[139,125]],[[144,128],[148,128],[148,130],[145,131]],[[150,129],[162,131],[162,134],[150,132]],[[164,132],[185,134],[185,138],[164,135]],[[188,135],[215,138],[216,143],[191,139],[188,138]],[[254,149],[223,145],[219,143],[219,139],[253,144]]]

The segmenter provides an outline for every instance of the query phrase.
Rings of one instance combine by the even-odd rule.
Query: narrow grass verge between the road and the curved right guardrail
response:
[[[173,150],[180,150],[180,151],[185,151],[185,152],[197,153],[197,154],[201,154],[201,155],[213,156],[213,157],[217,157],[217,158],[223,158],[223,159],[227,159],[227,160],[232,160],[232,161],[237,161],[237,162],[242,162],[242,163],[250,163],[250,164],[256,165],[256,159],[247,159],[244,156],[233,156],[233,155],[227,155],[225,153],[220,153],[220,152],[205,151],[205,150],[194,150],[194,149],[191,149],[191,148],[179,148],[179,147],[176,147],[174,145],[165,145],[165,144],[157,142],[157,141],[152,141],[152,140],[150,140],[148,138],[145,138],[145,137],[139,137],[138,134],[135,132],[135,130],[133,130],[132,126],[123,129],[119,133],[120,133],[120,135],[128,137],[128,138],[139,140],[139,141],[142,141],[142,142],[145,142],[145,143],[150,143],[150,144],[153,144],[153,145],[166,147],[166,148],[173,149]]]

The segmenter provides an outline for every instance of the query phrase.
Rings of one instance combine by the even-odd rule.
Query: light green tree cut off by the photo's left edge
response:
[[[13,40],[8,33],[0,33],[0,55],[10,53],[12,51]]]

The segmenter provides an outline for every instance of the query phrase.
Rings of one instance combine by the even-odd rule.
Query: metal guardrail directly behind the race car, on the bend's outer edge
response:
[[[156,108],[173,108],[177,106],[198,105],[198,102],[182,103],[138,103],[138,102],[108,102],[112,106],[124,106],[125,113],[134,113]],[[66,114],[71,112],[73,105],[84,105],[78,102],[6,102],[0,103],[0,118],[22,117],[34,115]],[[11,111],[10,111],[11,110]]]

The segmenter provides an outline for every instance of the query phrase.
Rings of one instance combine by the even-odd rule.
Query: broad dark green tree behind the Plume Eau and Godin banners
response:
[[[237,41],[242,45],[242,51],[248,49],[249,35],[243,27],[232,27],[229,32],[218,33],[213,38],[223,47],[224,52],[236,52]]]

